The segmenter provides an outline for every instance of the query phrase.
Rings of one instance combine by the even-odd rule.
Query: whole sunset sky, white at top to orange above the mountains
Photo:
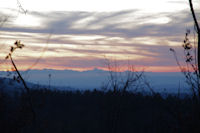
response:
[[[0,70],[11,67],[5,56],[21,40],[25,48],[13,55],[21,70],[106,69],[105,60],[116,60],[122,68],[179,71],[169,49],[182,61],[193,29],[187,0],[1,0],[0,14]]]

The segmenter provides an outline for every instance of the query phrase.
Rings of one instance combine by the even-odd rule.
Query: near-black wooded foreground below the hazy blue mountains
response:
[[[0,95],[2,133],[195,133],[199,106],[193,99],[131,92],[31,90]]]

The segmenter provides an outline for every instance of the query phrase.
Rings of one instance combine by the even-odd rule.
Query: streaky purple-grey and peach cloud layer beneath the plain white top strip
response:
[[[18,39],[26,48],[16,52],[15,58],[24,66],[41,58],[34,68],[102,68],[106,57],[122,64],[129,60],[149,71],[174,71],[169,48],[181,51],[185,30],[192,25],[189,11],[29,12],[8,18],[0,28],[0,45],[5,47],[0,58]]]

